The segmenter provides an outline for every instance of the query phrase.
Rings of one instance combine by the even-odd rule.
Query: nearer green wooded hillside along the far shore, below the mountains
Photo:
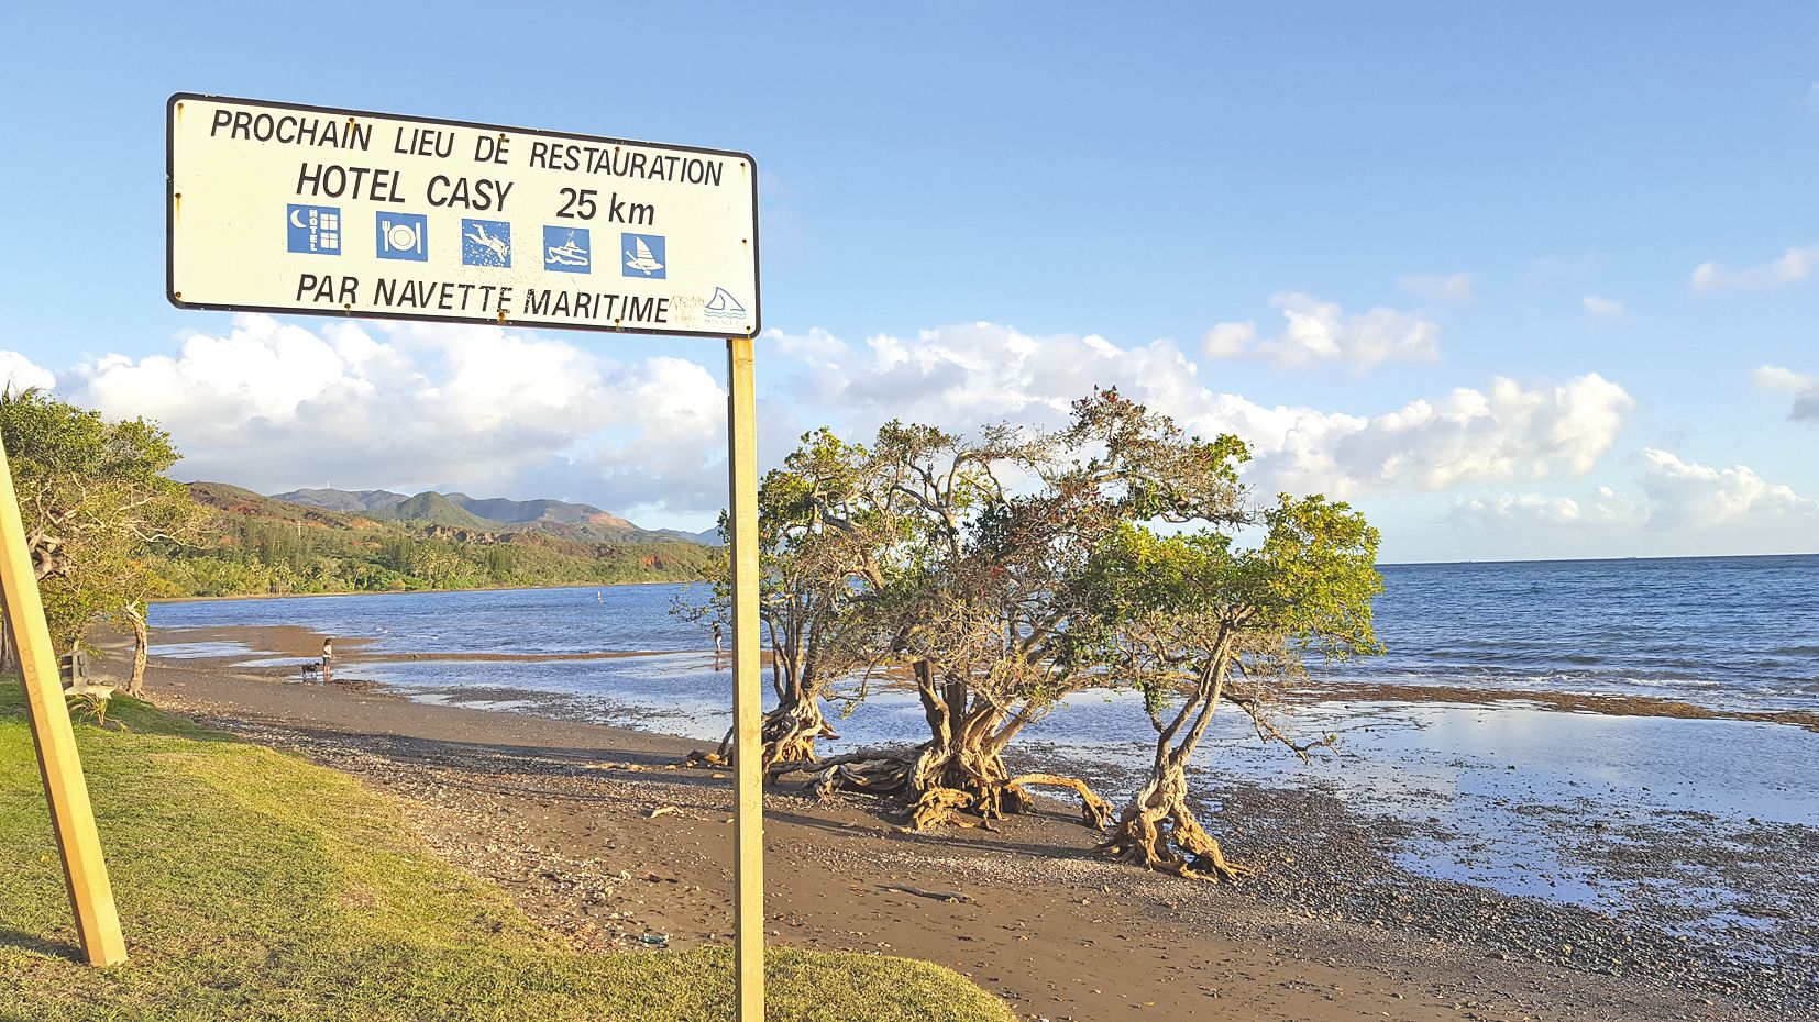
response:
[[[331,511],[218,482],[189,484],[189,493],[211,509],[202,540],[153,558],[173,596],[682,582],[717,556],[651,533],[597,542],[486,522],[433,493],[418,495],[426,516],[415,520],[391,520],[393,507]]]

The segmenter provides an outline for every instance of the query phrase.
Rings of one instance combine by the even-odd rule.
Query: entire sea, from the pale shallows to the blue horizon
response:
[[[1337,735],[1337,751],[1302,764],[1231,715],[1190,775],[1210,811],[1235,780],[1299,787],[1406,824],[1388,855],[1430,877],[1726,940],[1804,918],[1819,862],[1808,855],[1790,866],[1786,849],[1814,847],[1819,835],[1814,729],[1563,711],[1521,695],[1370,691],[1650,696],[1719,715],[1819,711],[1819,555],[1410,564],[1384,566],[1382,576],[1375,624],[1386,653],[1310,664],[1315,678],[1348,682],[1339,691],[1350,695],[1284,716],[1291,735]],[[704,586],[615,586],[164,602],[151,613],[153,653],[282,669],[302,660],[260,649],[256,633],[235,642],[191,629],[302,626],[366,640],[340,678],[422,702],[715,742],[731,716],[728,664],[704,624],[675,613],[706,596]],[[437,656],[402,658],[409,655]],[[859,695],[859,682],[840,693]],[[829,707],[840,738],[824,744],[828,753],[926,736],[913,693],[873,680],[864,696]],[[1066,764],[1117,800],[1139,784],[1153,731],[1133,695],[1086,691],[1011,749],[1030,764]],[[1724,842],[1730,866],[1688,873],[1675,860],[1639,875],[1608,855],[1612,835],[1646,844],[1684,831]],[[1775,840],[1763,844],[1764,833]],[[1752,847],[1761,867],[1739,869]]]

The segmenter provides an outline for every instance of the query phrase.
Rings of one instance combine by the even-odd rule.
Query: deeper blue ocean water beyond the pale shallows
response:
[[[1388,566],[1388,655],[1333,678],[1819,707],[1819,555]],[[382,653],[628,653],[711,646],[678,586],[160,604],[155,627],[306,626]],[[569,664],[564,675],[586,667]]]

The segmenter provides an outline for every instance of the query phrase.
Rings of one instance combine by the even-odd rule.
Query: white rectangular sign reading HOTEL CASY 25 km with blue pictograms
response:
[[[744,153],[178,93],[186,309],[759,333]]]

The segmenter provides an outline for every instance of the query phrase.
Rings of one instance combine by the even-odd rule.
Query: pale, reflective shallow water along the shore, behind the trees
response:
[[[711,656],[595,662],[586,691],[577,691],[568,667],[395,662],[344,673],[413,698],[644,727],[704,744],[731,726],[731,678]],[[1737,918],[1768,926],[1728,917],[1752,900],[1788,906],[1795,891],[1723,875],[1673,875],[1672,889],[1644,889],[1633,869],[1612,867],[1612,842],[1663,838],[1650,831],[1670,822],[1701,842],[1741,840],[1774,826],[1819,827],[1819,800],[1810,797],[1819,733],[1784,724],[1606,716],[1521,702],[1321,702],[1293,713],[1288,726],[1299,735],[1339,735],[1339,753],[1304,766],[1259,742],[1233,715],[1199,749],[1195,789],[1210,802],[1230,780],[1317,789],[1361,815],[1412,824],[1392,855],[1415,873],[1686,929]],[[829,755],[926,738],[915,695],[900,687],[875,691],[835,727],[842,736],[824,742]],[[1148,766],[1151,742],[1131,695],[1077,693],[1028,727],[1013,751],[1075,764],[1117,802]],[[1744,884],[1755,889],[1739,889]]]

